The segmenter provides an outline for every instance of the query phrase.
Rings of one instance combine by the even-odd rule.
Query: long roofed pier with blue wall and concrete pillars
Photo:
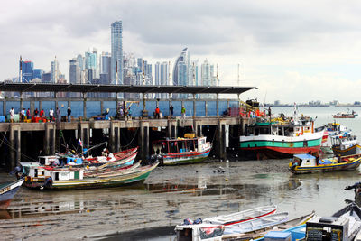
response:
[[[14,169],[17,162],[30,162],[39,154],[59,152],[60,138],[80,139],[84,148],[104,141],[107,137],[107,148],[116,152],[129,145],[138,145],[139,158],[146,160],[152,154],[151,146],[154,138],[182,137],[186,132],[197,136],[206,135],[213,144],[214,154],[226,160],[228,147],[237,147],[238,136],[243,132],[249,119],[239,115],[223,113],[229,108],[238,108],[239,96],[252,87],[156,87],[156,86],[109,86],[109,85],[72,85],[72,84],[35,84],[35,83],[3,83],[0,91],[18,92],[20,98],[0,100],[0,116],[6,116],[11,107],[15,112],[29,108],[44,109],[48,116],[49,109],[55,112],[60,108],[61,116],[66,116],[66,109],[71,107],[70,122],[45,123],[0,123],[0,164],[7,170]],[[24,97],[26,92],[48,92],[52,97]],[[69,93],[81,93],[82,97],[59,97]],[[89,93],[112,93],[115,97],[87,97]],[[119,93],[141,93],[142,98],[118,98]],[[148,98],[150,93],[167,93],[167,99]],[[61,94],[61,95],[60,95]],[[173,94],[190,94],[193,98],[172,98]],[[199,94],[215,94],[217,98],[199,98]],[[236,99],[219,99],[219,94],[236,94]],[[67,95],[65,95],[67,96]],[[134,104],[132,106],[132,104]],[[131,106],[132,116],[116,118],[120,106]],[[169,107],[174,107],[174,115]],[[160,107],[162,118],[153,118],[155,107]],[[180,115],[180,107],[187,109],[186,117]],[[109,110],[106,120],[97,120],[105,110]],[[64,118],[63,118],[64,120]],[[165,136],[157,136],[161,133]],[[136,138],[137,137],[137,138]],[[42,150],[42,153],[39,151]]]

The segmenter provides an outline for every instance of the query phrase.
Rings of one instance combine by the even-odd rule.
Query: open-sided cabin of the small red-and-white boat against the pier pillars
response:
[[[153,142],[153,154],[203,152],[210,144],[207,137],[165,139]]]

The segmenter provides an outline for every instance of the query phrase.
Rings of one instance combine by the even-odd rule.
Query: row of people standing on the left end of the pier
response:
[[[68,107],[67,110],[67,114],[68,114],[68,121],[70,121],[70,115],[71,115],[71,109],[70,107]],[[60,113],[60,109],[57,108],[57,111],[55,113],[56,115],[56,120],[57,122],[60,122],[61,120],[61,113]],[[14,116],[15,116],[15,110],[14,107],[11,107],[10,111],[9,111],[9,116],[10,116],[10,122],[14,122]],[[25,108],[23,108],[20,112],[19,112],[19,121],[24,122],[25,118],[26,119],[31,119],[32,117],[46,117],[45,116],[45,111],[42,109],[41,111],[38,110],[38,108],[35,108],[33,111],[33,115],[31,115],[31,111],[30,108],[28,108],[25,111]],[[52,122],[54,121],[54,110],[51,108],[49,110],[49,121]]]

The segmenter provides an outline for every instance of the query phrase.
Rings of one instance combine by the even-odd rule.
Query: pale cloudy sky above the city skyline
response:
[[[110,52],[110,24],[123,22],[123,50],[154,64],[218,64],[222,86],[257,89],[243,100],[360,101],[361,2],[212,0],[2,0],[0,80],[18,76],[19,57],[69,79],[69,60]],[[239,81],[238,81],[239,65]],[[172,70],[172,66],[171,66]]]

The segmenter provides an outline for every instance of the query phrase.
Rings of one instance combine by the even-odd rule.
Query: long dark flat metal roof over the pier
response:
[[[187,93],[187,94],[242,94],[255,87],[208,86],[133,86],[97,84],[54,84],[3,82],[0,91],[10,92],[104,92],[104,93]]]

